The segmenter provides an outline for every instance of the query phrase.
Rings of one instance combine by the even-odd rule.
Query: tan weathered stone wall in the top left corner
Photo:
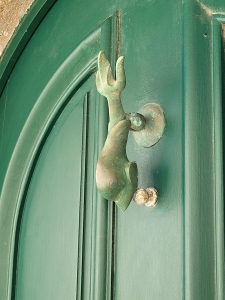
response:
[[[0,57],[20,19],[35,0],[0,0]]]

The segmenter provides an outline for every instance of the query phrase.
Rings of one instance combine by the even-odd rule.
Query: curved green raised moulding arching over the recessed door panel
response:
[[[88,36],[55,72],[37,99],[14,148],[0,202],[1,299],[11,299],[18,215],[38,151],[60,110],[95,71],[100,36],[101,28]]]

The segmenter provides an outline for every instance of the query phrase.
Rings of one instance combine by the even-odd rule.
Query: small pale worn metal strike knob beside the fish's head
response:
[[[157,190],[152,187],[147,189],[137,189],[133,200],[138,205],[145,204],[146,207],[154,207],[158,201]]]

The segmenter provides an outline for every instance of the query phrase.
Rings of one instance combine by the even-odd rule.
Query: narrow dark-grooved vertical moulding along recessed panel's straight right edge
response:
[[[94,107],[90,93],[84,97],[83,140],[82,140],[82,180],[79,220],[78,280],[77,299],[90,299],[93,285],[92,265],[95,259],[93,247],[94,205]]]

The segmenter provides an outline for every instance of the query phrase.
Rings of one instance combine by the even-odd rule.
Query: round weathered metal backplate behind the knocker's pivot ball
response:
[[[141,131],[133,131],[135,141],[142,147],[151,147],[163,135],[166,125],[162,108],[156,103],[148,103],[138,111],[145,118],[145,127]]]

